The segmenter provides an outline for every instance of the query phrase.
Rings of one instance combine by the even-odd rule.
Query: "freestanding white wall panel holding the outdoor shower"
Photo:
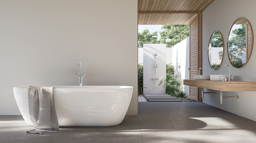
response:
[[[143,93],[164,93],[164,88],[159,85],[161,78],[166,78],[166,44],[143,44]],[[157,74],[155,77],[155,58],[157,53]],[[156,84],[157,81],[157,84]],[[157,86],[156,86],[157,85]]]

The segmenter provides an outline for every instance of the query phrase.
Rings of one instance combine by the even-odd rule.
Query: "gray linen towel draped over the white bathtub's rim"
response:
[[[35,129],[29,130],[27,133],[49,134],[59,130],[53,88],[29,86],[29,114]]]

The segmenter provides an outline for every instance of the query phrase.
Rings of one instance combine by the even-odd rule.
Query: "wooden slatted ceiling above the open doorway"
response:
[[[138,0],[138,24],[189,24],[198,14],[191,12],[201,12],[213,1]]]

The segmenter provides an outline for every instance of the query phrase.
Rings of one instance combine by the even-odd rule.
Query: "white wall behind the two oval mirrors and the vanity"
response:
[[[253,49],[251,58],[244,68],[234,68],[227,56],[227,38],[232,24],[241,17],[249,20],[252,28],[256,28],[255,19],[255,0],[215,0],[203,11],[203,74],[228,74],[230,65],[230,74],[234,75],[233,80],[237,81],[256,81],[256,51]],[[219,30],[224,38],[224,59],[219,70],[214,71],[208,63],[207,47],[211,34]],[[254,33],[255,35],[255,33]],[[255,38],[254,38],[254,43]],[[254,47],[256,45],[254,44]],[[210,90],[205,90],[210,91]],[[256,121],[256,92],[224,92],[223,95],[239,95],[239,99],[223,99],[223,104],[219,104],[219,94],[204,95],[203,103],[213,105],[226,111],[235,113],[248,119]]]

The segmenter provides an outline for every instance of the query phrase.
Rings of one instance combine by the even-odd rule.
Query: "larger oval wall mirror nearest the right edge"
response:
[[[235,68],[244,67],[249,61],[253,48],[253,30],[250,22],[239,18],[232,25],[227,41],[227,54]]]

